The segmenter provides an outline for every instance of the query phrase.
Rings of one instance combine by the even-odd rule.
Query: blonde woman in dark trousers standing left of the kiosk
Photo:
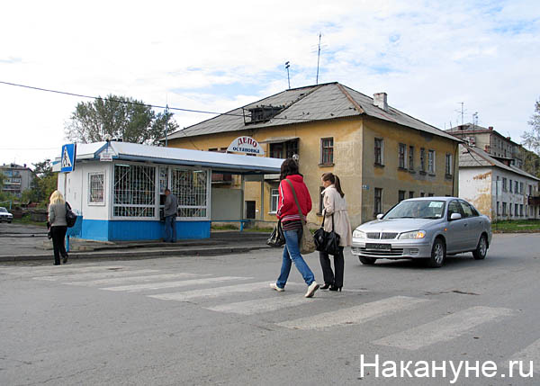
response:
[[[52,237],[52,247],[54,250],[54,265],[60,265],[60,256],[64,258],[63,263],[67,263],[66,252],[66,201],[62,193],[54,191],[49,199],[49,223],[50,235]]]

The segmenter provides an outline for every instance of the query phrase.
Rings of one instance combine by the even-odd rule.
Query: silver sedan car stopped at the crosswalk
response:
[[[439,267],[446,255],[473,252],[483,259],[491,244],[491,221],[456,197],[404,200],[353,232],[353,255],[362,264],[378,258],[424,258]]]

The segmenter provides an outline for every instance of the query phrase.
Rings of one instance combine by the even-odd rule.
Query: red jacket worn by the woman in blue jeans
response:
[[[294,192],[300,203],[302,214],[305,216],[311,211],[311,196],[308,187],[303,182],[302,175],[288,175],[287,179],[293,183]],[[300,220],[298,206],[294,201],[291,185],[283,180],[279,184],[279,199],[277,202],[277,218],[283,221]]]

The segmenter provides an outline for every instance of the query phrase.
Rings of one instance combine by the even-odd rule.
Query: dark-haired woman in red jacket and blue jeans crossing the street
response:
[[[315,282],[315,276],[310,267],[306,264],[300,254],[300,238],[302,236],[302,221],[306,220],[306,215],[311,211],[311,196],[308,187],[303,182],[303,177],[298,173],[298,164],[293,158],[287,158],[281,166],[281,182],[279,184],[279,199],[277,205],[277,218],[282,221],[284,229],[285,247],[281,274],[277,282],[271,283],[270,287],[275,291],[284,291],[285,284],[291,272],[291,263],[296,265],[296,269],[302,274],[308,292],[304,295],[311,298],[319,289],[319,284]],[[287,181],[288,180],[288,181]],[[298,211],[298,205],[294,200],[293,189],[289,181],[293,184],[294,192],[298,198],[302,217]]]

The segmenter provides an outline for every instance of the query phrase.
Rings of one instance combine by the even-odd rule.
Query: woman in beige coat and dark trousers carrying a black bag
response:
[[[343,272],[345,270],[345,258],[343,248],[352,244],[351,223],[347,214],[347,202],[345,193],[341,190],[338,175],[325,173],[322,175],[322,185],[325,190],[321,194],[323,197],[324,230],[330,232],[334,230],[339,235],[339,254],[334,256],[334,268],[336,274],[332,272],[329,254],[319,252],[320,266],[324,276],[324,285],[321,290],[341,291],[343,287]],[[332,215],[334,216],[334,229],[332,229]]]

